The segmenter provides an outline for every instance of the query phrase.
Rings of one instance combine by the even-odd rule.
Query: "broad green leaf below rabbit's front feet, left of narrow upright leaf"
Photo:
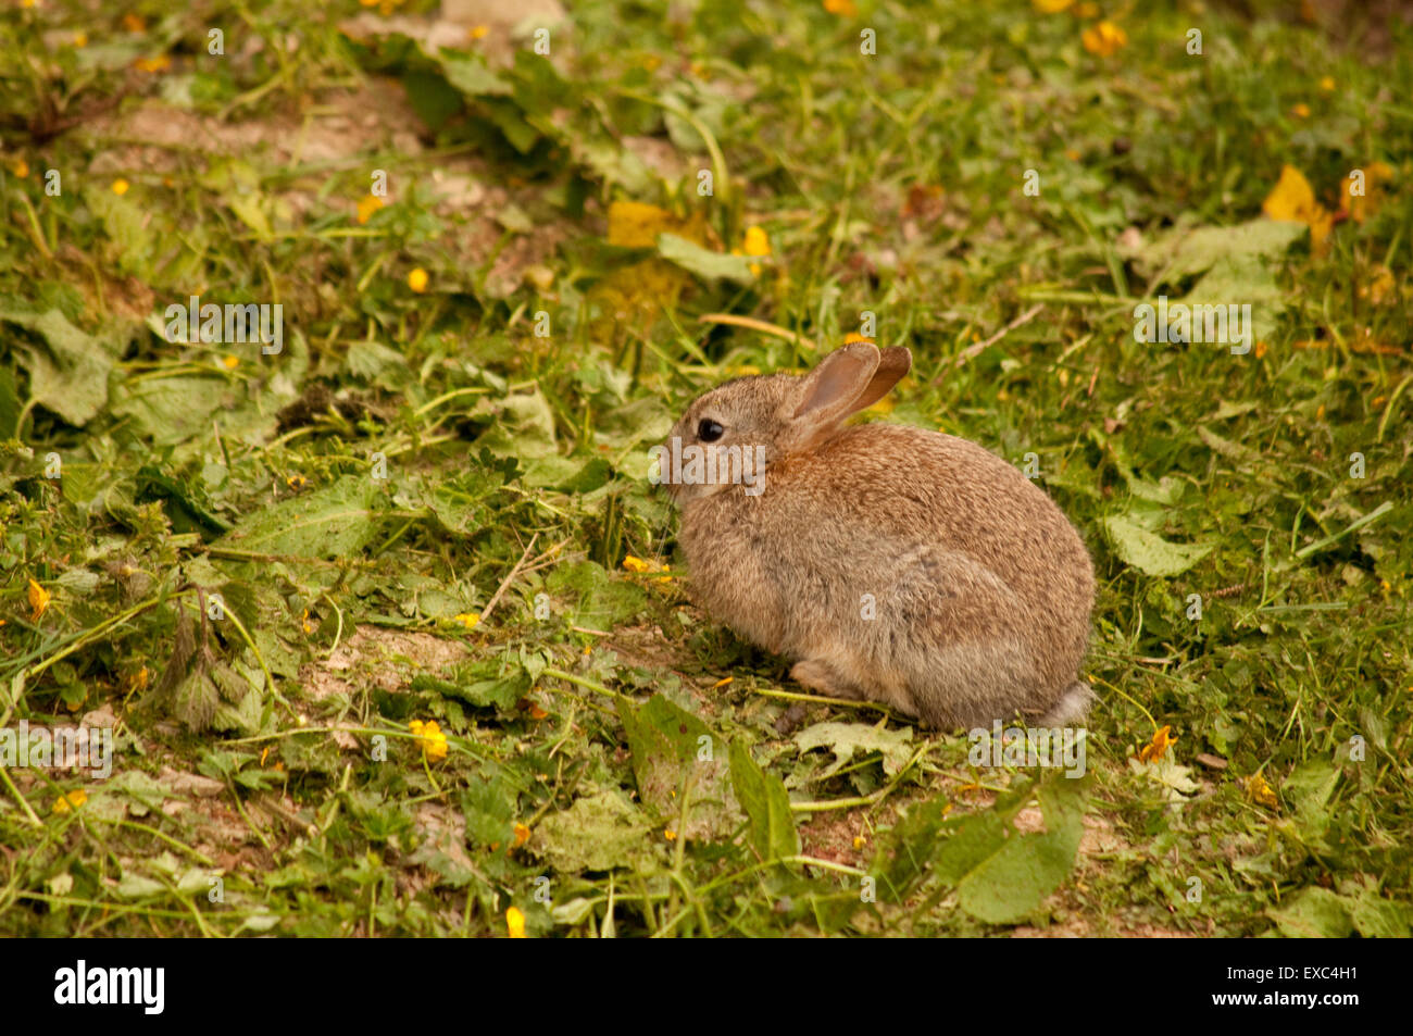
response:
[[[735,832],[745,814],[728,780],[721,738],[661,694],[639,707],[620,698],[617,710],[643,804],[674,823],[681,816],[682,797],[688,796],[685,837],[716,840]]]

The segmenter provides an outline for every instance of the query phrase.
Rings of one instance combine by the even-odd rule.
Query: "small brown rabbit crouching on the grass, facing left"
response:
[[[692,598],[822,695],[938,729],[1078,724],[1094,567],[1064,513],[974,442],[844,424],[911,363],[852,342],[687,407],[654,481],[681,514]]]

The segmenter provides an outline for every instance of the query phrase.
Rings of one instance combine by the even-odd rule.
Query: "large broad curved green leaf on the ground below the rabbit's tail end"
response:
[[[1087,787],[1085,779],[1063,776],[1040,784],[1043,832],[1020,834],[996,817],[975,818],[975,824],[952,835],[938,857],[937,871],[944,881],[957,879],[961,907],[978,920],[1012,924],[1060,888],[1074,866],[1084,834]]]

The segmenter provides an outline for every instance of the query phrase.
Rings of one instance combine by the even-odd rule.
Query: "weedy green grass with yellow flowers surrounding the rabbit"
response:
[[[584,4],[548,57],[7,8],[0,728],[116,755],[0,772],[0,933],[1406,936],[1413,30],[1249,7],[1105,7],[1109,57],[1019,1]],[[1193,254],[1286,165],[1324,249]],[[1204,281],[1249,353],[1135,341]],[[194,294],[283,351],[167,341]],[[914,355],[872,420],[1034,454],[1091,546],[1082,782],[690,604],[649,447],[865,312]]]

